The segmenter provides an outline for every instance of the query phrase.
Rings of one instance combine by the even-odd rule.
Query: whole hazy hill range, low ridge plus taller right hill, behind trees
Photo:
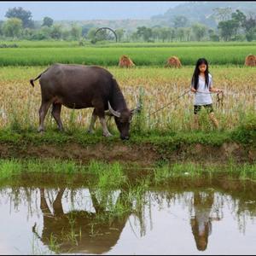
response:
[[[150,4],[150,3],[148,3]],[[216,28],[218,20],[213,16],[215,8],[231,8],[232,11],[240,9],[246,15],[256,15],[256,2],[183,2],[170,9],[166,9],[164,15],[154,15],[150,19],[88,19],[88,20],[55,20],[55,24],[61,24],[65,28],[70,28],[73,23],[79,26],[108,26],[113,29],[124,28],[126,32],[137,30],[137,26],[174,26],[175,16],[183,15],[189,21],[187,26],[195,22],[201,22],[209,27]],[[41,26],[42,20],[37,20],[37,26]]]

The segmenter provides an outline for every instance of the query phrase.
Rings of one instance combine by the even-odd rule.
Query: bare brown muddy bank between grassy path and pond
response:
[[[200,161],[224,163],[228,160],[236,162],[253,162],[256,160],[256,149],[240,143],[223,143],[221,146],[212,146],[201,143],[181,143],[175,147],[155,145],[153,143],[125,144],[125,143],[96,143],[82,145],[79,143],[65,143],[55,145],[42,143],[0,143],[0,157],[6,158],[58,158],[63,160],[79,160],[88,163],[90,160],[119,160],[123,163],[137,163],[150,166],[159,160],[174,162]]]

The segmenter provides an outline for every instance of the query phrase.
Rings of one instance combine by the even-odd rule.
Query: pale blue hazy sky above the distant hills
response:
[[[167,9],[184,2],[0,2],[0,20],[9,8],[22,7],[32,12],[33,20],[43,20],[49,16],[54,20],[119,20],[149,19],[153,15],[162,15]]]

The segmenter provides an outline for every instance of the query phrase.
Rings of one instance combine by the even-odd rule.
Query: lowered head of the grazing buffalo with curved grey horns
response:
[[[138,105],[137,108],[134,108],[132,110],[126,108],[119,112],[119,111],[113,110],[110,103],[108,102],[108,110],[114,116],[115,123],[120,132],[120,138],[122,140],[128,140],[130,137],[129,131],[130,131],[132,116],[135,113],[139,112],[141,110],[141,107]]]

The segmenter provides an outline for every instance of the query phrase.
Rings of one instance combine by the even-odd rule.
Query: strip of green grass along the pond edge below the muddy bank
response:
[[[45,177],[55,176],[57,180],[62,175],[61,178],[66,179],[65,183],[70,185],[77,178],[80,183],[90,183],[91,188],[101,189],[106,193],[114,189],[131,190],[133,188],[137,190],[134,193],[139,194],[139,190],[142,188],[145,190],[149,183],[168,183],[172,178],[177,177],[193,180],[205,175],[211,177],[214,174],[225,173],[230,177],[256,182],[255,162],[237,164],[234,160],[230,160],[225,165],[207,165],[190,161],[175,163],[160,161],[156,162],[154,167],[146,168],[145,171],[146,174],[142,175],[143,168],[138,167],[137,170],[133,170],[126,168],[125,164],[118,161],[108,163],[90,160],[86,165],[75,160],[2,159],[0,160],[0,183],[19,183],[27,176],[30,177],[30,182],[39,182],[44,175]]]

